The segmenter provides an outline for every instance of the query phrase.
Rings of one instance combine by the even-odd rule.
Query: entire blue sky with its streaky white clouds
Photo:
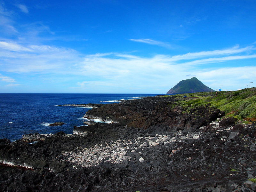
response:
[[[0,92],[256,84],[256,1],[0,0]],[[250,82],[253,82],[250,84]]]

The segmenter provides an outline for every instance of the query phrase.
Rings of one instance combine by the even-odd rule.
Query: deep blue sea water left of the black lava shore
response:
[[[113,103],[156,94],[66,94],[0,93],[0,138],[11,141],[28,133],[73,133],[74,126],[84,125],[83,116],[90,108],[58,106],[65,104]],[[49,126],[64,122],[62,126]]]

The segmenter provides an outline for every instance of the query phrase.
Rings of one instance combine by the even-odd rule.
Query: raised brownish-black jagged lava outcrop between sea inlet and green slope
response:
[[[146,130],[151,126],[157,126],[168,131],[182,129],[184,132],[194,132],[224,115],[219,109],[211,106],[201,106],[192,109],[189,113],[185,112],[186,109],[181,106],[173,107],[179,99],[183,98],[150,97],[106,104],[101,108],[89,110],[85,117],[111,119],[119,122],[120,127]]]

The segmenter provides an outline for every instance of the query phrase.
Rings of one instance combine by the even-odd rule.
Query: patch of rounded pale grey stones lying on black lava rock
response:
[[[142,152],[145,148],[148,147],[164,147],[168,143],[176,142],[179,140],[195,140],[199,139],[202,132],[194,132],[189,133],[186,136],[183,136],[182,131],[179,130],[173,135],[158,135],[154,137],[138,137],[138,138],[129,138],[126,140],[116,140],[104,142],[102,144],[96,144],[93,147],[82,148],[78,147],[78,151],[76,152],[63,152],[63,158],[59,161],[68,161],[74,163],[76,161],[77,166],[82,167],[92,167],[98,165],[100,162],[108,162],[112,164],[121,164],[125,161],[134,161],[133,157],[129,156],[129,153],[136,153],[142,155]],[[178,147],[177,149],[173,149],[170,157],[174,156],[179,152],[182,148]],[[192,158],[189,157],[188,160]],[[144,161],[143,157],[140,157],[140,162]]]

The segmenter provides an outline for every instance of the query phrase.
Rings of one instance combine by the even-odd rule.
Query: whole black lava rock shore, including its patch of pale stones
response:
[[[0,191],[256,191],[256,122],[238,118],[249,104],[228,113],[211,98],[237,92],[187,96],[90,104],[86,118],[112,123],[0,139]]]

